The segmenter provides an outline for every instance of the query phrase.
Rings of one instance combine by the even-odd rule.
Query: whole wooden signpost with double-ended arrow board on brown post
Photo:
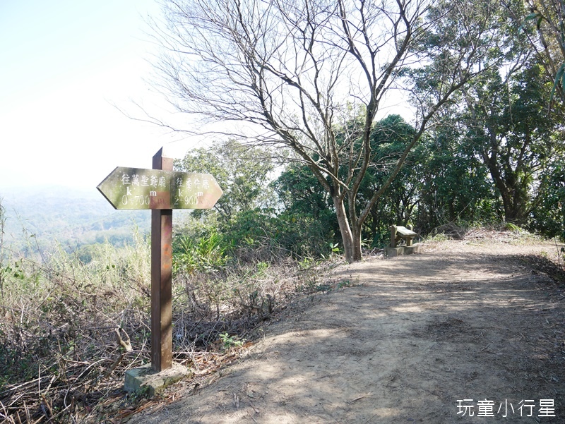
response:
[[[172,170],[162,149],[153,169],[117,167],[97,189],[115,209],[151,211],[151,368],[172,366],[172,210],[210,209],[222,189],[209,174]]]

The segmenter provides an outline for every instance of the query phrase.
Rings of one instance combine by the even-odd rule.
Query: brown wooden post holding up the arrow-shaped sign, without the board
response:
[[[153,169],[172,171],[173,159],[153,156]],[[172,209],[151,211],[151,368],[172,366]]]

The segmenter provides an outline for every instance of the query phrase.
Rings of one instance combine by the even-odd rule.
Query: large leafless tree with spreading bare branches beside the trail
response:
[[[362,226],[434,114],[499,43],[497,1],[163,1],[160,88],[215,133],[289,147],[331,195],[349,262],[361,260]],[[358,205],[376,114],[400,89],[417,100],[414,137]]]

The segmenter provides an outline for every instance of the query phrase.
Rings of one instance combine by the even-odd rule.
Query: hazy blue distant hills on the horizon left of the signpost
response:
[[[134,226],[142,234],[150,231],[150,211],[114,210],[96,188],[0,188],[0,199],[4,241],[22,253],[56,241],[66,250],[106,240],[121,246],[132,240]]]

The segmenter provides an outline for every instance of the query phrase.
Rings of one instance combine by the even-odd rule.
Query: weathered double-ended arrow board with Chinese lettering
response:
[[[97,189],[115,209],[210,209],[223,193],[210,174],[121,166]]]

